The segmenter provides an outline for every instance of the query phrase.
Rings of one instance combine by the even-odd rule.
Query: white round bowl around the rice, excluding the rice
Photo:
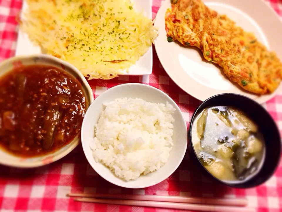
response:
[[[159,170],[148,173],[147,175],[141,175],[136,180],[124,181],[118,178],[109,168],[105,167],[101,163],[97,163],[93,158],[93,152],[90,149],[90,142],[94,138],[94,127],[98,122],[102,111],[105,109],[103,103],[111,102],[116,98],[141,98],[147,102],[164,103],[168,102],[176,110],[172,117],[174,118],[173,128],[173,147],[169,153],[167,163]],[[187,126],[182,115],[181,110],[177,104],[164,92],[149,85],[139,83],[127,83],[117,85],[110,88],[99,95],[94,102],[88,108],[85,117],[83,119],[81,127],[81,143],[84,154],[92,166],[92,168],[105,180],[118,186],[125,188],[145,188],[157,183],[162,182],[168,178],[179,166],[184,158],[187,148]]]

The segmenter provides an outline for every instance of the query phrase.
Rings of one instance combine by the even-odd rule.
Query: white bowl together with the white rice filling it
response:
[[[177,104],[149,85],[117,85],[88,108],[81,142],[91,167],[125,188],[146,188],[168,178],[187,149],[187,126]]]

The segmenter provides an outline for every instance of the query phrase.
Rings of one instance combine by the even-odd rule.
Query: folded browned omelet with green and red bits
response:
[[[274,52],[226,15],[200,0],[171,0],[165,14],[168,42],[199,48],[208,61],[222,67],[229,80],[256,94],[273,92],[282,79],[282,64]]]

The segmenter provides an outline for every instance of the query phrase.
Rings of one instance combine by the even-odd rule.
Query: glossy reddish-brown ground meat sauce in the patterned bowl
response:
[[[15,155],[44,155],[68,144],[88,103],[81,84],[62,69],[22,66],[0,79],[0,144]]]

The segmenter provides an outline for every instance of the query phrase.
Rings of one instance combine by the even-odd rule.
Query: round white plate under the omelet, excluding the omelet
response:
[[[282,22],[278,15],[261,0],[204,0],[209,8],[226,14],[246,31],[254,32],[260,42],[275,51],[282,58]],[[221,93],[245,95],[259,103],[266,102],[282,91],[282,84],[269,95],[254,95],[231,82],[212,62],[202,59],[202,52],[196,48],[185,48],[176,42],[167,42],[164,15],[171,8],[170,0],[160,7],[155,26],[159,36],[155,48],[165,71],[172,80],[191,96],[206,100]]]

